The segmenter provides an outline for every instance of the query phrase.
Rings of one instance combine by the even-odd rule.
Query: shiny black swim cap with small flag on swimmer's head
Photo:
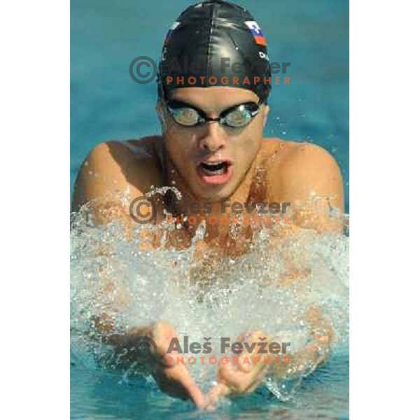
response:
[[[160,97],[179,87],[231,86],[267,102],[271,69],[267,41],[253,16],[227,1],[188,7],[165,39],[159,64]]]

